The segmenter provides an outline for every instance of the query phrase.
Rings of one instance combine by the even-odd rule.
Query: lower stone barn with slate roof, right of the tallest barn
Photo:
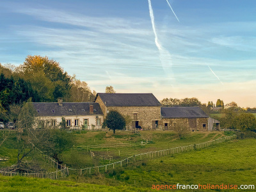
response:
[[[164,130],[183,126],[190,131],[208,131],[209,116],[199,107],[161,108],[161,117]]]

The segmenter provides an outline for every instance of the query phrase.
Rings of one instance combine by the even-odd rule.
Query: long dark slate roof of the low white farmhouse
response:
[[[63,106],[59,106],[58,102],[33,102],[32,104],[38,116],[92,115],[90,105],[93,105],[93,115],[103,115],[99,104],[95,102],[63,102]]]

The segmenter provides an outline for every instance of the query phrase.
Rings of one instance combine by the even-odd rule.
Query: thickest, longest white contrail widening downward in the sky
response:
[[[168,77],[170,77],[172,75],[172,57],[170,55],[170,52],[168,52],[166,49],[164,49],[164,47],[162,47],[162,45],[158,41],[158,37],[157,37],[157,33],[156,33],[156,26],[155,26],[155,21],[154,21],[154,13],[153,13],[153,9],[152,9],[150,0],[148,0],[148,8],[149,8],[149,15],[150,15],[151,23],[152,23],[152,28],[153,28],[154,35],[155,35],[155,44],[159,51],[159,58],[161,60],[164,72],[166,73],[166,75]]]

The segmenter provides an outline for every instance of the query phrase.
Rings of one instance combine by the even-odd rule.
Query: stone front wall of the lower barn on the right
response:
[[[160,125],[164,130],[174,130],[175,126],[184,125],[189,131],[207,131],[208,118],[162,118]]]

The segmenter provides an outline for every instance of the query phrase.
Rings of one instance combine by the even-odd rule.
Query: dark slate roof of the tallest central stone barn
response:
[[[152,93],[97,93],[106,106],[161,106]]]

